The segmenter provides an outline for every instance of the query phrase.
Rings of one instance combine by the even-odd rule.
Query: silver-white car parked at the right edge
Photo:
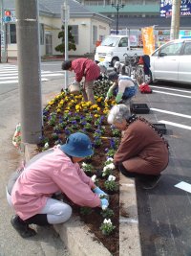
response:
[[[150,56],[150,64],[153,82],[177,81],[191,85],[191,38],[163,44]]]

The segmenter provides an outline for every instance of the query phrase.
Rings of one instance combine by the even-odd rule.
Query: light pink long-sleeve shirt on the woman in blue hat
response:
[[[100,199],[92,191],[94,182],[84,174],[58,147],[32,163],[16,180],[11,201],[22,220],[40,213],[47,199],[62,191],[81,206],[100,206]]]

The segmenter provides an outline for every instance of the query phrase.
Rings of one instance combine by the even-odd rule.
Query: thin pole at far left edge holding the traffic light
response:
[[[1,62],[8,62],[7,56],[7,36],[6,36],[6,24],[3,20],[4,18],[4,1],[1,0]]]

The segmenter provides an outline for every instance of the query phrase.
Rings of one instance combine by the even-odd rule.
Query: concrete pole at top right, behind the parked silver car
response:
[[[180,32],[180,3],[181,0],[173,0],[170,39],[178,39]]]

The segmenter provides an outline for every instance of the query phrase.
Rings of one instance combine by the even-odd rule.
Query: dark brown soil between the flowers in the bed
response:
[[[59,144],[65,143],[66,138],[68,136],[68,134],[66,134],[66,132],[64,131],[64,129],[60,129],[59,132],[57,132],[57,136],[58,138],[53,138],[53,133],[54,131],[54,127],[55,125],[57,125],[58,122],[60,122],[60,113],[59,116],[56,117],[56,124],[50,125],[48,124],[48,121],[50,120],[50,114],[53,113],[53,111],[55,112],[55,105],[52,105],[52,107],[48,110],[48,112],[46,113],[46,115],[44,116],[44,128],[43,128],[43,138],[42,138],[42,143],[40,143],[38,145],[38,150],[42,151],[43,150],[43,146],[45,144],[45,142],[48,140],[49,141],[49,145],[50,148],[53,147],[55,144],[57,144],[57,139]],[[75,114],[75,110],[72,110],[72,112]],[[84,114],[84,112],[82,112]],[[93,118],[91,124],[92,124],[92,128],[93,131],[86,131],[86,133],[90,136],[91,140],[94,140],[94,132],[96,130],[95,127],[95,121],[96,118]],[[68,123],[67,127],[69,127],[70,124]],[[97,173],[97,171],[102,170],[104,167],[104,162],[106,161],[106,151],[105,149],[111,149],[111,138],[113,136],[112,130],[110,128],[110,125],[107,124],[106,118],[105,120],[103,120],[101,127],[105,127],[105,131],[102,134],[101,137],[101,146],[97,149],[95,149],[95,154],[87,160],[85,160],[84,162],[86,163],[90,163],[94,166],[94,173],[92,175],[95,175]],[[81,129],[81,125],[78,126],[78,128],[75,131],[78,131],[79,129]],[[119,141],[120,138],[118,138]],[[91,176],[92,176],[91,175]],[[119,180],[119,175],[118,175],[118,171],[114,170],[112,175],[115,175],[117,177],[117,183]],[[106,178],[98,178],[98,184],[97,186],[102,189],[103,191],[106,191],[104,188],[104,182],[105,182]],[[80,207],[77,205],[74,205],[73,202],[70,201],[70,204],[72,205],[73,209],[74,209],[74,214],[79,215],[81,221],[84,221],[88,227],[91,230],[91,233],[94,233],[96,236],[96,241],[100,241],[102,244],[105,245],[106,248],[108,248],[108,250],[111,252],[112,255],[114,256],[118,256],[119,255],[119,224],[118,224],[118,220],[119,220],[119,195],[118,192],[116,192],[116,194],[114,195],[109,195],[109,208],[112,209],[114,211],[114,216],[111,217],[111,221],[113,222],[113,224],[116,226],[115,230],[113,231],[113,233],[109,236],[105,236],[101,233],[100,230],[100,225],[103,222],[104,218],[100,215],[101,209],[100,208],[95,208],[93,209],[92,213],[89,215],[82,215],[80,213]]]

